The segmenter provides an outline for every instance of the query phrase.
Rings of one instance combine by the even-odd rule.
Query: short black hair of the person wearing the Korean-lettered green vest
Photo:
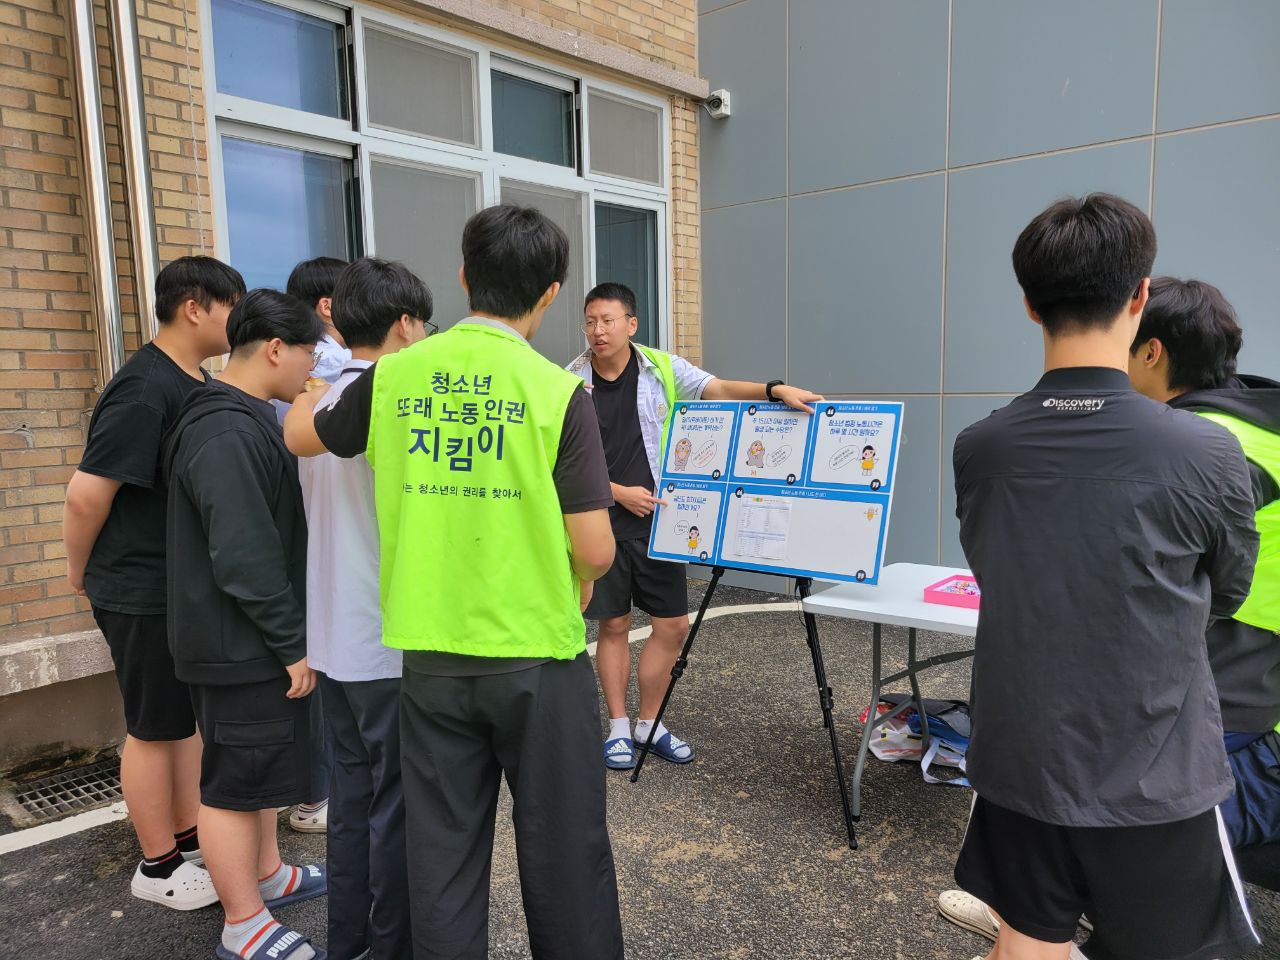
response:
[[[534,207],[492,206],[462,229],[462,275],[477,314],[525,316],[567,273],[568,237]]]

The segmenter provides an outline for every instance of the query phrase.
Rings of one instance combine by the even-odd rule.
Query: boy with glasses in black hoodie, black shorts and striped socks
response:
[[[297,461],[269,401],[302,392],[324,328],[257,289],[227,321],[230,358],[165,442],[169,636],[204,737],[200,836],[223,901],[220,960],[324,957],[271,909],[325,892],[280,860],[276,809],[310,781],[307,522]]]

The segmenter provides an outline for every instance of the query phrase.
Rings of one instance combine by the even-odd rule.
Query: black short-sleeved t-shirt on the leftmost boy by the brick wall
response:
[[[166,497],[160,449],[187,396],[200,385],[201,380],[148,343],[129,357],[97,401],[79,470],[123,485],[84,568],[84,590],[96,607],[132,614],[165,612]]]

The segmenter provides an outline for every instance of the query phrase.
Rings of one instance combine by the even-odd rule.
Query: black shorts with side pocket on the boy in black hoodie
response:
[[[311,792],[311,699],[289,700],[289,678],[236,686],[193,684],[205,753],[200,803],[220,810],[303,804]]]

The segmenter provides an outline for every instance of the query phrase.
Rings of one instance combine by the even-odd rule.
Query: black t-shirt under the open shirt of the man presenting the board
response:
[[[636,390],[640,383],[639,352],[631,348],[631,360],[617,380],[605,380],[599,371],[591,372],[595,401],[595,419],[604,442],[604,461],[609,467],[609,480],[621,486],[643,486],[653,490],[653,471],[649,454],[640,433],[640,415],[636,411]],[[616,540],[649,539],[653,515],[637,517],[621,503],[609,509]]]

